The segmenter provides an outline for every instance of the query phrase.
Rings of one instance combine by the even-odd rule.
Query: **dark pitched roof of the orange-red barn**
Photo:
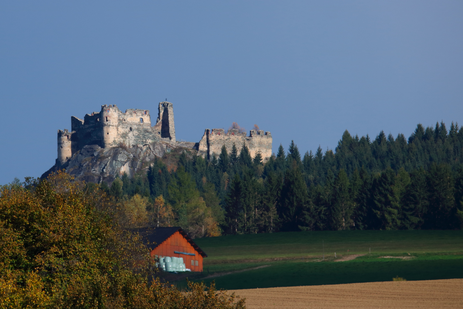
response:
[[[201,248],[194,243],[194,241],[188,236],[188,234],[182,230],[181,227],[153,227],[153,228],[137,228],[134,232],[138,232],[142,236],[143,243],[152,249],[156,248],[163,243],[164,240],[168,239],[175,232],[179,232],[188,243],[193,246],[203,258],[207,257],[206,252],[202,251]]]

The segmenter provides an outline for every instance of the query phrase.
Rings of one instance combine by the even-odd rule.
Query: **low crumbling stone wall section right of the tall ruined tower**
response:
[[[243,145],[246,145],[253,158],[257,152],[261,153],[264,160],[272,155],[272,135],[270,132],[263,132],[263,130],[251,130],[250,135],[246,136],[245,132],[240,133],[237,129],[230,129],[226,133],[224,129],[206,129],[200,140],[198,152],[210,159],[214,153],[219,156],[223,145],[225,145],[227,152],[231,153],[233,143],[238,153]]]

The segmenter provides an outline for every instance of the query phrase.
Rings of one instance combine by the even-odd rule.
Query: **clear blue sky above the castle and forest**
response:
[[[40,176],[102,104],[174,103],[178,139],[232,121],[302,153],[463,125],[462,1],[0,1],[0,183]]]

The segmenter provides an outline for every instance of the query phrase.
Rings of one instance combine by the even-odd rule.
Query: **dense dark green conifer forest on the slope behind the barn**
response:
[[[459,229],[463,127],[419,124],[408,140],[346,130],[334,151],[301,154],[294,141],[264,164],[246,147],[209,161],[194,151],[156,159],[147,173],[100,188],[146,207],[144,223],[193,237],[344,229]],[[138,202],[137,202],[138,201]],[[132,207],[136,208],[136,206]],[[149,221],[149,222],[147,222]]]

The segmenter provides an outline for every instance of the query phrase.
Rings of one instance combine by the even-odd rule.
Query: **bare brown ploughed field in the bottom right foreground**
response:
[[[463,308],[463,279],[231,290],[248,309]]]

